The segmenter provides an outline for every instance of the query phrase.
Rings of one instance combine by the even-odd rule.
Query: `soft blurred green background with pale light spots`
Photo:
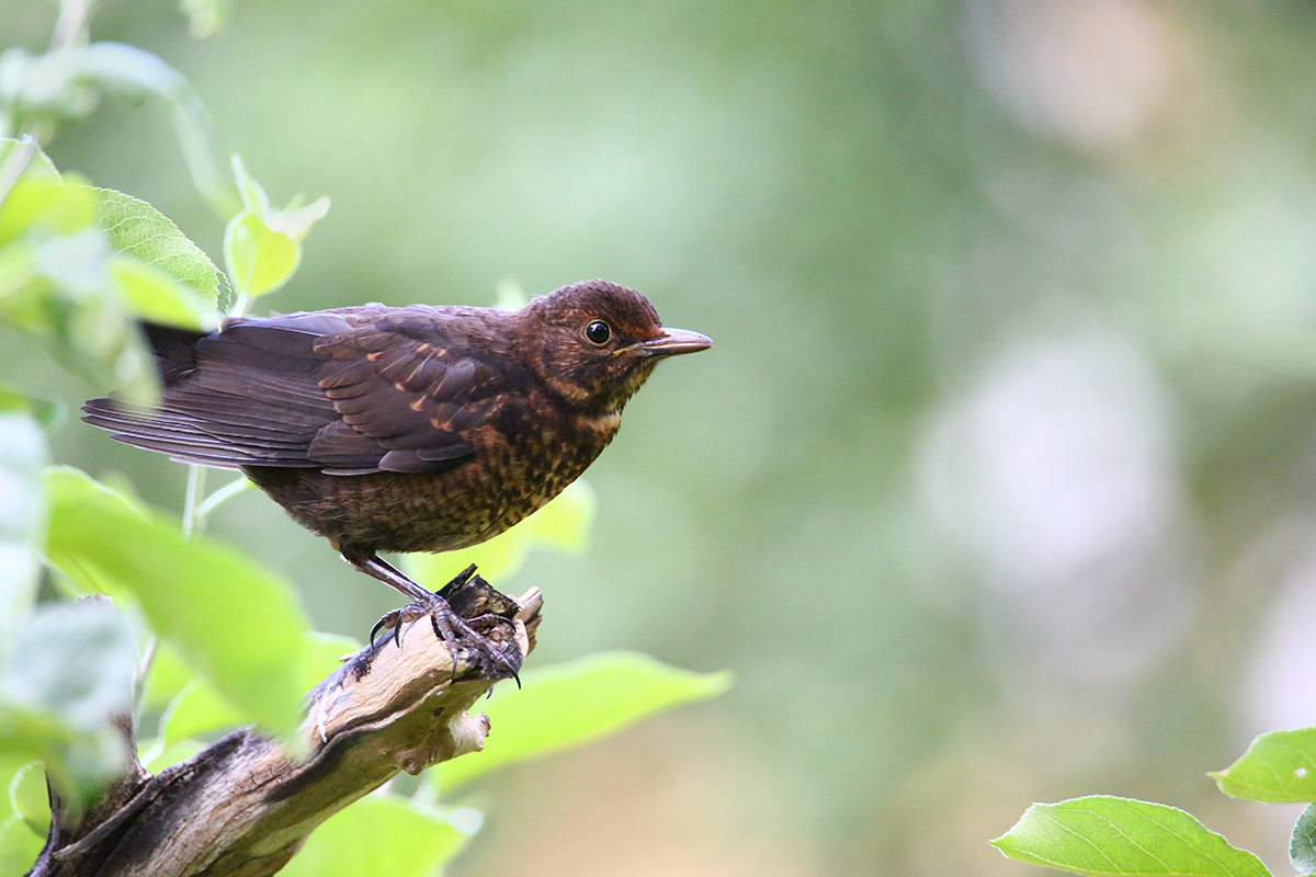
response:
[[[8,0],[0,42],[54,16]],[[546,592],[540,665],[737,685],[497,777],[454,873],[1021,877],[987,840],[1090,793],[1290,873],[1296,814],[1204,772],[1316,724],[1316,5],[236,0],[196,41],[104,0],[92,36],[178,67],[276,201],[332,196],[262,308],[603,276],[717,342],[590,471],[588,554],[496,584]],[[50,153],[220,255],[162,107]],[[28,343],[0,375],[103,389]],[[75,421],[55,452],[182,502]],[[259,494],[212,531],[321,628],[393,602]]]

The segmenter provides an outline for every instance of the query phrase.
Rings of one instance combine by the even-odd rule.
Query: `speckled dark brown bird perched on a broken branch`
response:
[[[450,643],[483,638],[379,554],[503,533],[599,456],[659,360],[712,347],[603,280],[515,312],[371,304],[146,334],[159,402],[93,398],[83,421],[175,460],[241,469],[415,601],[375,631],[428,614]]]

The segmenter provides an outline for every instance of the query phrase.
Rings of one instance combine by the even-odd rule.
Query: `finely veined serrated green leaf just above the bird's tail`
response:
[[[146,201],[113,189],[95,192],[96,221],[109,238],[109,245],[196,293],[188,298],[184,312],[207,314],[213,323],[215,309],[222,304],[220,272],[215,263]],[[138,313],[155,318],[146,310],[139,309]]]

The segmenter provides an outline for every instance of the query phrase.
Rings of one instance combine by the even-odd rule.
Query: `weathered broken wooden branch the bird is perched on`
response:
[[[445,594],[495,642],[512,667],[534,647],[542,597],[516,602],[475,576]],[[507,621],[512,619],[513,625]],[[429,619],[350,656],[311,692],[297,757],[255,728],[241,728],[195,757],[150,776],[133,753],[124,774],[80,819],[51,792],[51,827],[29,877],[263,877],[279,870],[311,831],[399,770],[476,752],[488,718],[467,710],[505,667],[458,650],[453,659]]]

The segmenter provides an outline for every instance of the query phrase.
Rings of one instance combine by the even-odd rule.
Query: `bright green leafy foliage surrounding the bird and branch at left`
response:
[[[184,11],[193,34],[209,36],[222,25],[228,4],[190,0]],[[138,321],[208,329],[222,313],[241,313],[283,287],[329,200],[303,205],[299,196],[275,210],[237,156],[233,184],[221,183],[186,80],[139,49],[66,34],[45,55],[4,53],[0,74],[0,134],[17,135],[0,138],[0,325],[39,338],[54,362],[91,385],[150,400],[158,388]],[[226,218],[226,276],[153,206],[61,175],[39,149],[39,139],[86,117],[109,92],[164,99],[199,195]],[[288,739],[301,693],[358,648],[312,632],[287,581],[196,533],[193,525],[204,523],[241,484],[207,498],[193,477],[180,526],[126,488],[47,465],[55,409],[22,388],[0,388],[4,874],[22,870],[39,851],[49,824],[47,776],[72,807],[93,799],[114,776],[125,752],[113,717],[134,715],[139,756],[151,769],[188,757],[241,723],[255,722]],[[475,560],[487,575],[505,579],[537,544],[583,550],[592,513],[588,488],[575,485],[458,560]],[[438,576],[437,563],[416,563],[422,580]],[[117,611],[103,600],[38,601],[43,575],[46,593],[108,594]],[[500,722],[494,748],[483,761],[479,755],[463,759],[470,767],[453,768],[449,780],[595,739],[728,685],[724,675],[701,676],[621,653],[529,669],[522,681],[524,692],[499,690],[488,703]],[[155,730],[146,731],[143,722],[154,722]],[[415,799],[370,795],[328,820],[286,873],[387,868],[429,874],[479,822],[468,807],[436,803],[433,784]]]

